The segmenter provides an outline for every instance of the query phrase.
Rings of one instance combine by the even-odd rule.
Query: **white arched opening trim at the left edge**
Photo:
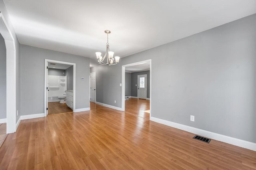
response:
[[[16,50],[12,33],[0,12],[0,34],[6,46],[6,133],[16,132]]]

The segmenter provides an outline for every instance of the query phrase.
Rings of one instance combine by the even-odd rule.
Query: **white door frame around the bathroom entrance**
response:
[[[47,63],[59,63],[59,64],[67,64],[67,65],[73,65],[73,112],[76,110],[76,63],[68,63],[65,61],[56,61],[56,60],[51,60],[51,59],[44,59],[44,117],[47,116],[47,111],[46,111],[46,99],[47,99]]]

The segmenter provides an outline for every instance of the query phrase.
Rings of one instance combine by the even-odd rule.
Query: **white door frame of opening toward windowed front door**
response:
[[[144,60],[144,61],[139,61],[139,62],[136,62],[136,63],[130,63],[130,64],[126,64],[126,65],[122,65],[122,96],[121,96],[121,99],[122,99],[122,109],[121,111],[125,111],[125,100],[124,100],[124,97],[125,97],[125,67],[130,67],[130,66],[133,66],[133,65],[138,65],[138,64],[142,64],[142,63],[145,63],[145,62],[150,62],[150,104],[149,104],[149,108],[150,108],[150,118],[151,118],[151,112],[152,112],[152,97],[151,97],[151,89],[152,89],[152,85],[151,85],[151,82],[152,82],[152,78],[151,78],[151,75],[152,75],[152,60],[151,59],[148,59],[148,60]]]

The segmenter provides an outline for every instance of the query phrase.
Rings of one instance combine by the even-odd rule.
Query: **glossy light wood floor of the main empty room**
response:
[[[22,120],[0,148],[0,169],[256,169],[256,152],[193,136],[91,103],[90,111]]]

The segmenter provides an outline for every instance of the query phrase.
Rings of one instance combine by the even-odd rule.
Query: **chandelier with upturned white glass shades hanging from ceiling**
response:
[[[110,30],[105,30],[105,33],[107,34],[107,49],[106,49],[106,53],[104,55],[104,57],[101,56],[101,52],[96,52],[96,57],[98,59],[98,63],[102,64],[102,65],[115,65],[119,62],[120,57],[116,56],[113,57],[114,52],[113,51],[109,51],[109,43],[108,43],[108,34],[110,34]],[[104,59],[107,56],[107,60],[104,62]]]

